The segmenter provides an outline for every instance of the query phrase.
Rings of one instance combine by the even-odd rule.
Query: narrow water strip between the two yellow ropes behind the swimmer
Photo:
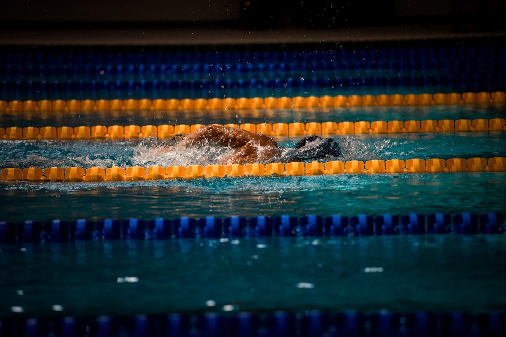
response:
[[[384,92],[381,92],[384,93]],[[396,92],[398,93],[398,92]],[[343,92],[336,94],[345,94]],[[367,94],[370,94],[369,92]],[[226,103],[226,101],[225,101]],[[224,104],[225,104],[224,103]],[[178,111],[93,111],[93,112],[25,112],[0,114],[3,127],[94,126],[94,125],[162,125],[342,122],[377,120],[477,119],[504,118],[504,106],[377,106],[300,109],[228,109]]]

